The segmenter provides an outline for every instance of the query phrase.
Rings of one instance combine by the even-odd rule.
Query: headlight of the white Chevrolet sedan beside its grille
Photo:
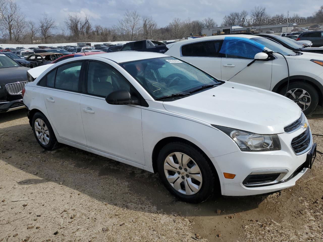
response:
[[[258,135],[243,130],[212,125],[230,136],[241,151],[270,151],[280,150],[277,135]]]

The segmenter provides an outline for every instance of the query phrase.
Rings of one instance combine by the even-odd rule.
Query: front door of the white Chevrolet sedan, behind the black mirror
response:
[[[141,106],[111,105],[105,97],[120,89],[131,92],[128,81],[112,66],[89,61],[82,114],[87,146],[144,165]]]

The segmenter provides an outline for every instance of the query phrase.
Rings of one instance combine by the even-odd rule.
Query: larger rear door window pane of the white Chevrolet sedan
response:
[[[82,62],[73,62],[57,68],[55,87],[68,91],[78,91],[78,80]]]

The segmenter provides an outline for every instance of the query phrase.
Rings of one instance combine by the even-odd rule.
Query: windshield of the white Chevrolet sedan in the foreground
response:
[[[153,58],[120,64],[154,99],[183,94],[204,86],[220,85],[212,76],[173,57]],[[166,99],[165,99],[166,100]]]

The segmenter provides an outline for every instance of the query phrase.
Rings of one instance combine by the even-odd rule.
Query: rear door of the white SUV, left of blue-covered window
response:
[[[222,42],[223,40],[210,40],[182,45],[180,58],[221,80],[221,55],[219,50]]]

